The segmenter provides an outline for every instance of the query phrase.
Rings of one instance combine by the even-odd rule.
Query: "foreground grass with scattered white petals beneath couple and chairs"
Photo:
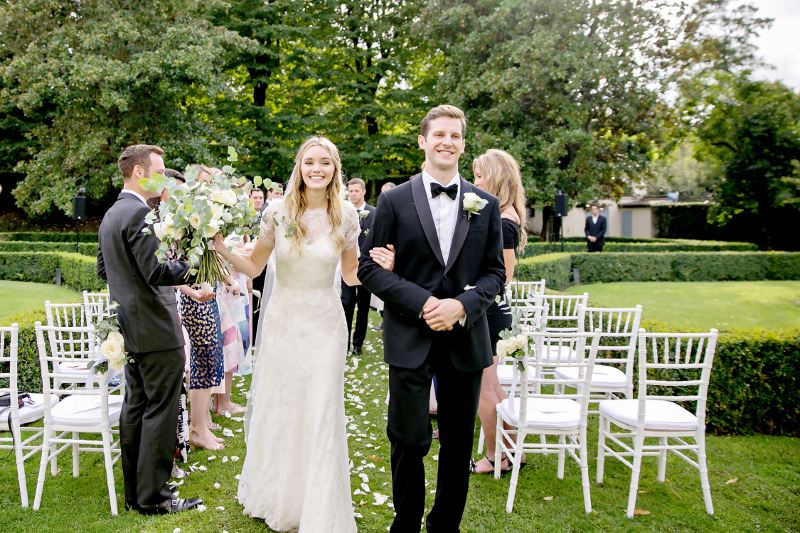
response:
[[[373,314],[372,321],[377,320]],[[391,495],[389,468],[390,445],[386,438],[386,406],[384,400],[388,387],[387,369],[382,361],[381,341],[369,332],[369,346],[358,364],[358,369],[346,374],[347,392],[359,396],[361,403],[347,402],[347,415],[353,417],[350,430],[350,457],[354,463],[351,487],[359,489],[361,479],[355,468],[364,468],[369,476],[372,493]],[[374,350],[374,351],[372,351]],[[288,355],[288,354],[287,354]],[[294,354],[300,355],[300,354]],[[348,358],[353,364],[352,358]],[[235,388],[234,399],[244,402],[243,391],[249,378],[235,379],[243,383]],[[366,412],[365,415],[361,413]],[[223,457],[244,458],[246,450],[241,432],[242,423],[215,416],[223,427],[234,430],[234,437],[226,440],[227,449],[221,452],[198,450],[189,454],[189,464],[204,465],[207,471],[195,471],[180,487],[181,496],[200,496],[205,499],[205,512],[191,511],[174,516],[143,517],[123,509],[122,474],[115,466],[117,502],[120,515],[112,517],[108,507],[105,471],[99,454],[81,454],[81,475],[71,475],[71,454],[59,458],[61,473],[52,478],[48,474],[44,486],[42,508],[39,511],[22,509],[19,504],[16,471],[13,456],[3,452],[0,467],[0,531],[2,532],[216,532],[230,533],[266,532],[262,521],[242,515],[236,502],[235,475],[241,472],[242,461],[223,463]],[[436,422],[434,421],[434,425]],[[277,428],[276,430],[279,430]],[[359,437],[358,434],[366,435]],[[583,510],[580,471],[567,459],[565,477],[556,478],[556,456],[529,456],[528,466],[520,474],[517,498],[512,514],[506,514],[505,501],[509,477],[495,481],[491,476],[473,476],[470,495],[462,522],[465,533],[512,532],[606,532],[606,531],[800,531],[800,440],[785,437],[709,437],[708,463],[711,493],[716,514],[708,516],[703,506],[700,478],[697,471],[677,457],[671,456],[667,465],[667,482],[656,481],[656,458],[645,458],[639,489],[646,491],[638,499],[637,508],[650,511],[648,516],[634,520],[625,517],[630,471],[618,461],[606,460],[603,485],[594,483],[597,424],[590,422],[590,479],[594,512]],[[372,438],[374,437],[374,440]],[[475,432],[477,445],[478,432]],[[358,440],[360,439],[360,440]],[[254,445],[257,446],[257,443]],[[436,465],[439,453],[434,441],[426,458],[426,477],[435,486]],[[216,459],[209,461],[214,455]],[[477,458],[477,457],[476,457]],[[287,450],[279,461],[295,461]],[[301,465],[296,465],[301,475]],[[314,468],[313,462],[306,468]],[[28,492],[31,502],[36,485],[38,461],[26,463]],[[467,468],[467,465],[464,465]],[[732,479],[735,483],[727,484]],[[220,488],[214,488],[219,483]],[[552,497],[552,500],[544,500]],[[375,506],[371,495],[353,497],[357,519],[362,533],[386,531],[391,524],[393,511],[387,505]],[[391,499],[389,503],[391,503]],[[426,495],[426,509],[433,504],[433,494]]]

